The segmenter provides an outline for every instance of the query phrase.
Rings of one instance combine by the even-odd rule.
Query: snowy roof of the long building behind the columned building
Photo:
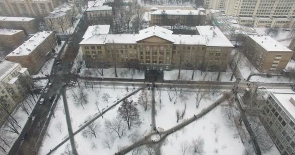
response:
[[[199,11],[199,10],[156,10],[152,13],[150,13],[150,15],[162,15],[163,11],[165,11],[165,14],[167,15],[206,15],[205,13]]]

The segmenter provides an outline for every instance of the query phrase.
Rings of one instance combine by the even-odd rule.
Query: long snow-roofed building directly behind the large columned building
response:
[[[150,26],[154,25],[186,25],[206,24],[206,14],[199,10],[157,10],[150,13]]]

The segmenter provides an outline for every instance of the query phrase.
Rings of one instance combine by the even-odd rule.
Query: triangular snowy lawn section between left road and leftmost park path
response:
[[[49,122],[45,137],[42,141],[41,148],[39,150],[40,155],[46,155],[51,148],[60,143],[64,138],[68,136],[67,125],[66,125],[66,115],[64,102],[62,98],[58,99],[57,105],[54,110],[54,115],[52,115]],[[66,145],[63,145],[66,146]],[[58,149],[55,154],[60,155],[64,152],[62,147]]]

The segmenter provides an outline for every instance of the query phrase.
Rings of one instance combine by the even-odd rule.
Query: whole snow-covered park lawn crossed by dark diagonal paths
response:
[[[83,106],[79,101],[77,101],[77,95],[81,94],[81,91],[84,93],[87,92],[87,103],[83,104]],[[82,85],[81,88],[78,86],[69,87],[66,91],[66,96],[73,131],[75,132],[82,124],[84,124],[85,121],[93,118],[99,113],[99,111],[102,111],[104,108],[111,106],[115,100],[122,98],[125,94],[131,93],[132,91],[132,86],[128,87],[127,92],[126,86],[115,86],[114,88],[113,85],[105,84],[94,85],[93,89],[91,87],[82,87]],[[145,91],[148,92],[148,99],[150,102],[151,91]],[[177,109],[182,110],[185,104],[187,106],[185,115],[183,119],[180,120],[181,122],[187,118],[192,117],[202,109],[208,107],[213,101],[217,100],[221,93],[219,90],[211,90],[211,92],[200,90],[200,92],[203,92],[205,95],[201,100],[199,107],[196,108],[195,91],[197,90],[183,89],[181,91],[181,95],[180,89],[177,89],[177,93],[174,89],[170,90],[166,88],[161,88],[160,90],[155,91],[157,127],[169,129],[177,125],[178,123],[175,115]],[[128,130],[128,127],[125,126],[126,122],[122,121],[125,131],[121,138],[118,138],[116,134],[111,133],[109,129],[106,129],[106,121],[112,121],[117,117],[117,110],[122,104],[120,103],[115,108],[106,112],[103,115],[103,118],[100,117],[93,123],[94,125],[98,126],[96,130],[96,137],[90,135],[85,136],[85,133],[83,132],[84,130],[75,135],[74,139],[79,155],[96,155],[97,152],[102,155],[113,155],[120,148],[131,145],[135,137],[138,140],[143,138],[144,135],[148,134],[151,129],[151,109],[148,107],[148,109],[145,111],[143,107],[140,106],[138,98],[141,93],[142,91],[132,95],[129,98],[129,100],[133,100],[136,108],[139,111],[141,124],[138,126],[131,126],[131,129]],[[105,94],[109,94],[109,97],[103,97],[108,96]],[[168,94],[171,98],[173,98],[171,101]],[[159,104],[160,98],[162,104]],[[40,155],[45,155],[48,153],[49,149],[56,146],[59,141],[61,141],[67,135],[65,122],[66,119],[62,104],[63,102],[62,99],[60,100],[61,101],[58,102],[58,109],[55,111],[56,117],[51,119],[47,131],[50,137],[46,136],[44,139],[43,147],[39,152]],[[193,138],[197,138],[199,135],[204,138],[204,155],[213,155],[214,150],[211,144],[216,144],[214,149],[218,150],[219,155],[241,155],[244,151],[243,143],[241,142],[239,136],[237,136],[236,128],[230,126],[227,123],[226,117],[223,116],[221,110],[222,108],[222,106],[219,106],[216,109],[213,109],[213,111],[207,114],[204,118],[189,124],[184,129],[181,129],[180,131],[168,136],[168,142],[165,142],[161,148],[163,155],[182,154],[180,150],[181,143],[183,141],[190,142]],[[59,124],[62,125],[57,127]],[[218,131],[215,133],[213,126],[216,124],[218,126]],[[62,131],[59,131],[59,128]],[[69,143],[69,141],[67,143]],[[68,146],[69,144],[64,144],[57,151],[55,151],[53,155],[66,153]],[[142,152],[140,155],[145,155],[145,152]]]

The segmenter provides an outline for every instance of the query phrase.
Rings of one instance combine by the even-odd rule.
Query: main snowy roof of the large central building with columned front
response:
[[[205,28],[201,26],[202,28]],[[200,28],[200,29],[202,29]],[[88,38],[84,38],[81,45],[96,45],[96,44],[136,44],[137,42],[147,39],[152,36],[162,38],[174,45],[206,45],[206,46],[222,46],[233,47],[226,36],[218,29],[207,28],[208,32],[203,32],[200,35],[181,35],[172,34],[172,31],[159,26],[152,26],[139,31],[139,34],[92,34]],[[202,29],[205,30],[205,29]],[[215,31],[215,32],[214,32]],[[211,36],[213,35],[214,36]]]

